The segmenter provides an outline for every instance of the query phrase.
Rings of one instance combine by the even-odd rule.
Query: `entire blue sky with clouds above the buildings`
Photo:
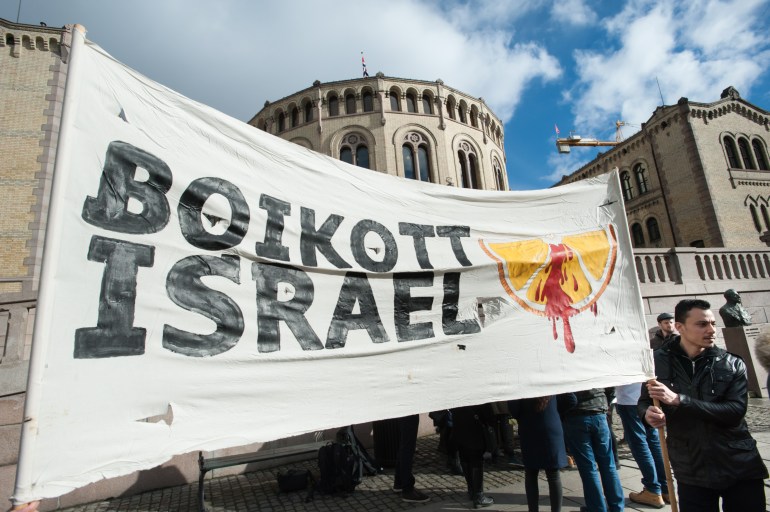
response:
[[[20,9],[19,9],[20,8]],[[770,110],[770,0],[3,0],[0,17],[80,23],[118,60],[247,121],[316,79],[441,78],[505,123],[511,189],[551,186],[657,106],[729,85]],[[657,82],[656,82],[657,79]],[[660,90],[658,89],[660,84]]]

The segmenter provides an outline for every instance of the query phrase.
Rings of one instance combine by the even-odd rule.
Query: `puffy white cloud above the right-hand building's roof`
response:
[[[576,51],[578,84],[570,91],[575,125],[608,137],[616,118],[640,124],[679,97],[713,101],[728,85],[744,96],[763,73],[770,39],[757,22],[766,1],[632,2],[604,20],[618,46]]]

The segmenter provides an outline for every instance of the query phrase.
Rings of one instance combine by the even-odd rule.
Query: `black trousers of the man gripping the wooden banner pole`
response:
[[[678,483],[681,512],[719,512],[722,498],[724,512],[765,512],[765,483],[741,480],[727,489],[712,489]]]

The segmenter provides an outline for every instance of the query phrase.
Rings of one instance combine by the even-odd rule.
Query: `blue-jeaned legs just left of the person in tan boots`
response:
[[[604,417],[604,415],[600,415]],[[599,472],[596,470],[590,433],[590,416],[567,416],[564,418],[564,437],[570,453],[575,458],[580,480],[583,482],[583,496],[591,512],[607,512],[602,494]],[[606,425],[606,423],[605,423]]]

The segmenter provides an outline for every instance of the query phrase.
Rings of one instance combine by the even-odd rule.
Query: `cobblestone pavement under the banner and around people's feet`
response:
[[[752,432],[770,432],[770,401],[751,399],[746,416]],[[613,429],[622,438],[620,421],[616,420]],[[466,510],[469,502],[466,495],[465,480],[462,476],[446,471],[445,456],[436,448],[438,436],[420,438],[417,442],[414,472],[417,488],[431,497],[431,503],[443,502],[452,510]],[[622,466],[635,466],[627,446],[621,445]],[[254,471],[241,475],[213,478],[206,481],[206,508],[209,512],[327,512],[340,510],[366,510],[390,512],[412,510],[424,507],[424,503],[405,503],[400,495],[391,491],[393,472],[364,477],[363,482],[351,495],[323,496],[305,503],[304,491],[279,494],[275,483],[275,474],[288,468],[310,469],[318,475],[316,461],[296,462],[272,469]],[[506,464],[489,463],[484,469],[484,487],[495,489],[520,486],[523,493],[524,473]],[[62,509],[65,512],[172,512],[196,511],[197,483],[177,487],[168,487],[133,496],[114,498],[108,501],[79,505]]]

